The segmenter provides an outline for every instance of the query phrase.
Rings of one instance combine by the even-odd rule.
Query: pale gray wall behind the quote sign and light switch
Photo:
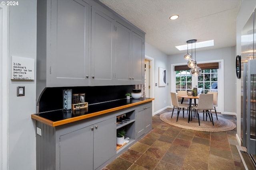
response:
[[[9,78],[11,56],[36,60],[36,0],[10,6]],[[17,97],[17,86],[25,86],[25,96]],[[30,115],[36,111],[35,80],[9,80],[8,152],[10,170],[36,168],[35,125]]]

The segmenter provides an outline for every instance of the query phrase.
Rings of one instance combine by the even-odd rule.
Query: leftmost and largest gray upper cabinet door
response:
[[[82,0],[52,1],[50,23],[47,86],[88,85],[89,5]]]

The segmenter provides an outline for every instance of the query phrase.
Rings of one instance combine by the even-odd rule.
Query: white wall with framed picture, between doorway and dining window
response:
[[[153,87],[154,88],[154,111],[153,113],[157,113],[161,111],[162,109],[166,108],[168,96],[170,96],[170,92],[168,92],[168,86],[170,84],[166,84],[165,87],[159,87],[158,86],[158,67],[162,68],[168,68],[168,63],[167,63],[167,55],[153,47],[152,45],[146,43],[145,44],[145,55],[154,58],[154,70],[152,71],[154,74],[154,82],[153,82]],[[166,74],[166,81],[170,79],[170,76]],[[157,83],[157,86],[155,84]]]

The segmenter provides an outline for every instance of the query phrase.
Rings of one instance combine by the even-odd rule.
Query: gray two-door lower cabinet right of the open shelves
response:
[[[152,105],[144,105],[136,109],[136,138],[152,129]]]

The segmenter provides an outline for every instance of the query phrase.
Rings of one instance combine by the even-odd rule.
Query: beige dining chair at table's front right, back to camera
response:
[[[197,114],[197,117],[198,117],[198,123],[199,123],[199,126],[200,126],[200,120],[199,120],[199,111],[200,110],[203,111],[203,114],[204,114],[204,110],[206,110],[206,114],[208,113],[209,117],[210,117],[210,114],[209,114],[209,112],[210,112],[211,117],[212,117],[213,94],[200,94],[197,106],[191,106],[191,107],[196,109],[196,114]],[[212,125],[214,125],[213,119],[211,119],[211,117],[210,117],[210,121],[212,121]]]

